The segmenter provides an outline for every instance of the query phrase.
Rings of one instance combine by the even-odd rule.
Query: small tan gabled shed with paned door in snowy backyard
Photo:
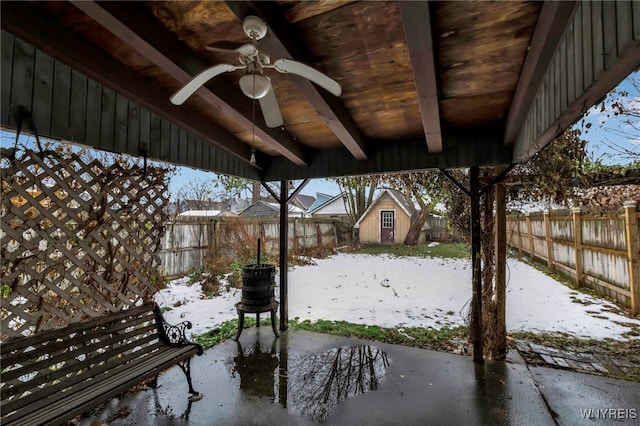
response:
[[[404,196],[393,189],[384,189],[362,214],[355,228],[361,243],[401,243],[411,225],[411,210]],[[424,241],[424,233],[420,241]]]

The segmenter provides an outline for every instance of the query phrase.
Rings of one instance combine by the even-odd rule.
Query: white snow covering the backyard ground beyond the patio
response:
[[[340,253],[314,261],[289,270],[290,319],[382,327],[464,324],[471,299],[468,260]],[[615,313],[614,304],[572,291],[526,263],[509,259],[507,265],[508,330],[624,339],[633,325],[640,326],[640,320]],[[169,283],[156,301],[172,308],[165,313],[170,323],[189,320],[192,333],[201,334],[237,317],[240,290],[204,300],[200,285],[183,278]]]

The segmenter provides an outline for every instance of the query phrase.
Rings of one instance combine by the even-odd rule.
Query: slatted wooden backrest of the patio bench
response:
[[[164,346],[155,303],[0,344],[2,412],[63,391]]]

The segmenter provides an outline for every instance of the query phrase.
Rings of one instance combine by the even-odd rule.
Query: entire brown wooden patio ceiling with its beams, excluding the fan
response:
[[[564,33],[574,9],[575,2],[538,1],[3,2],[2,25],[244,161],[255,150],[255,167],[275,179],[309,166],[319,177],[508,163],[505,143],[514,143],[535,79],[558,45],[550,34]],[[339,82],[342,95],[266,70],[284,118],[282,127],[268,128],[259,104],[239,90],[243,71],[236,71],[212,79],[182,107],[171,105],[169,96],[199,71],[238,63],[236,53],[206,47],[246,42],[247,15],[267,23],[258,44],[271,62],[310,65]],[[47,25],[60,30],[40,31]],[[97,53],[80,49],[87,43],[117,66],[100,66]],[[132,72],[149,84],[123,77]],[[496,154],[476,159],[485,150],[474,146],[478,140]],[[402,147],[397,158],[385,154],[393,147]],[[426,160],[404,162],[415,157],[406,152]]]

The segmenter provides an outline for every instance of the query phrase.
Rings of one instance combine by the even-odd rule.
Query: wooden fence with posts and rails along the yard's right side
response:
[[[631,306],[640,313],[640,268],[637,203],[624,203],[621,214],[583,215],[541,212],[509,216],[507,244],[551,270],[571,275],[578,286]]]

